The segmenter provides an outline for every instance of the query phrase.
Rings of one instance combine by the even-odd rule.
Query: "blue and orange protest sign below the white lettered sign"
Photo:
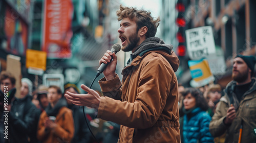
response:
[[[188,61],[190,74],[193,80],[190,82],[193,87],[200,87],[214,81],[208,61],[206,59]]]

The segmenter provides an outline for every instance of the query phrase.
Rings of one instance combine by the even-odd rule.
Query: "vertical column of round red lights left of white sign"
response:
[[[177,47],[177,55],[179,57],[184,57],[186,55],[186,36],[185,36],[185,27],[186,27],[186,19],[185,19],[185,5],[183,0],[178,0],[176,4],[176,11],[178,12],[176,18],[176,25],[178,26],[178,31],[176,34],[176,38],[178,43]]]

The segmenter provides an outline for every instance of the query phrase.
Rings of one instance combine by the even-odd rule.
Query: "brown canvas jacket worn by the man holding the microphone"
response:
[[[123,69],[122,83],[99,81],[98,117],[121,125],[118,142],[180,142],[178,67],[174,52],[150,51]]]

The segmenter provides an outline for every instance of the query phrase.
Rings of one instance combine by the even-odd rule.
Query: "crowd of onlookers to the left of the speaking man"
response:
[[[32,92],[33,83],[28,78],[23,78],[20,81],[22,86],[20,87],[19,97],[16,98],[14,96],[16,79],[9,71],[1,72],[0,82],[0,142],[96,142],[85,121],[87,118],[89,126],[91,126],[90,121],[93,122],[95,119],[95,112],[86,113],[87,117],[85,118],[81,107],[63,98],[63,93],[67,91],[80,92],[75,84],[65,84],[63,93],[60,87],[56,85],[50,85],[49,87],[40,85]],[[9,92],[7,110],[4,110],[5,90]],[[90,109],[87,108],[88,110]],[[4,111],[8,111],[7,139],[3,136],[4,125],[7,125],[4,124]],[[112,127],[105,126],[109,130],[108,132],[119,130],[119,126],[116,126],[115,129],[112,129]],[[100,134],[98,140],[103,140],[103,136],[106,134],[99,131],[96,133]],[[112,137],[111,139],[115,138]],[[104,139],[107,140],[108,137]]]

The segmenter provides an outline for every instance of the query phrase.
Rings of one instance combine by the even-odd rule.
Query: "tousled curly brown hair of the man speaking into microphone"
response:
[[[157,27],[159,26],[160,17],[157,17],[154,20],[154,17],[151,16],[150,11],[145,11],[144,9],[137,10],[133,7],[124,7],[120,5],[120,9],[116,11],[116,15],[118,16],[118,20],[122,20],[123,18],[130,18],[136,21],[137,24],[137,32],[140,28],[146,26],[146,38],[154,37],[157,33]]]

